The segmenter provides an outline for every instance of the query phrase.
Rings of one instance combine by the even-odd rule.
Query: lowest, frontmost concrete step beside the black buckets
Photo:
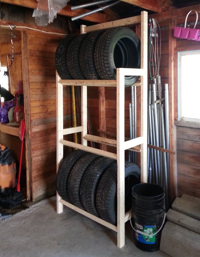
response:
[[[161,234],[160,250],[172,257],[199,257],[200,235],[167,221]]]

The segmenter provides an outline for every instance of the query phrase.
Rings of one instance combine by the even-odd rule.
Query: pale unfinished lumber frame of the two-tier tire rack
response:
[[[63,205],[95,220],[96,222],[117,232],[117,246],[123,247],[125,244],[125,222],[130,219],[131,212],[125,213],[124,207],[124,151],[140,145],[140,168],[141,182],[147,182],[147,49],[148,49],[148,13],[143,11],[141,16],[130,17],[118,21],[112,21],[89,27],[82,27],[83,33],[96,31],[100,29],[109,29],[112,27],[138,24],[141,22],[141,69],[117,69],[116,80],[61,80],[56,74],[56,109],[57,109],[57,170],[63,158],[63,145],[78,148],[109,158],[117,160],[118,165],[118,183],[117,183],[117,226],[114,226],[76,206],[64,201],[57,193],[57,213],[63,212]],[[141,87],[141,125],[140,137],[124,142],[124,76],[139,75],[141,81],[135,83],[135,86]],[[63,86],[76,85],[81,86],[81,126],[63,129]],[[117,87],[117,140],[102,138],[87,134],[87,87],[104,86]],[[82,133],[82,144],[63,140],[63,135],[75,132]],[[117,147],[117,154],[107,152],[87,146],[87,140],[111,144]]]

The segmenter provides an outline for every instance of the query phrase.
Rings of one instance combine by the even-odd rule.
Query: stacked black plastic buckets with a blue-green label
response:
[[[137,248],[147,252],[159,250],[161,228],[165,220],[164,189],[142,183],[132,188],[132,227]]]

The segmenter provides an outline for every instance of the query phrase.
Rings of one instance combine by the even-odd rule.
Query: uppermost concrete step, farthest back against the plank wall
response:
[[[172,209],[191,218],[200,220],[200,204],[198,203],[189,202],[185,199],[177,197],[172,204]]]

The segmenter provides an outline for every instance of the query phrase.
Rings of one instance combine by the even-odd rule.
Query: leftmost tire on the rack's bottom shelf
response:
[[[74,164],[86,154],[87,152],[82,150],[76,150],[70,152],[62,161],[58,168],[58,172],[56,174],[56,190],[58,194],[67,202],[70,202],[70,199],[67,194],[67,181],[70,174],[71,169]]]

